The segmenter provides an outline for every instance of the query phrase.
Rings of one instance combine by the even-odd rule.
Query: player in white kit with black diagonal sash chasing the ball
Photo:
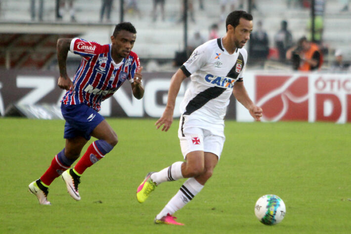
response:
[[[198,194],[212,176],[224,144],[224,116],[231,93],[257,121],[262,109],[256,106],[244,87],[243,71],[247,51],[242,48],[250,39],[253,17],[245,11],[233,11],[226,18],[226,34],[197,47],[171,79],[166,109],[155,123],[167,131],[173,121],[175,98],[181,82],[190,77],[189,88],[181,103],[178,137],[185,162],[178,161],[159,172],[150,172],[137,188],[142,203],[166,181],[189,178],[163,210],[157,224],[183,225],[173,214]]]

